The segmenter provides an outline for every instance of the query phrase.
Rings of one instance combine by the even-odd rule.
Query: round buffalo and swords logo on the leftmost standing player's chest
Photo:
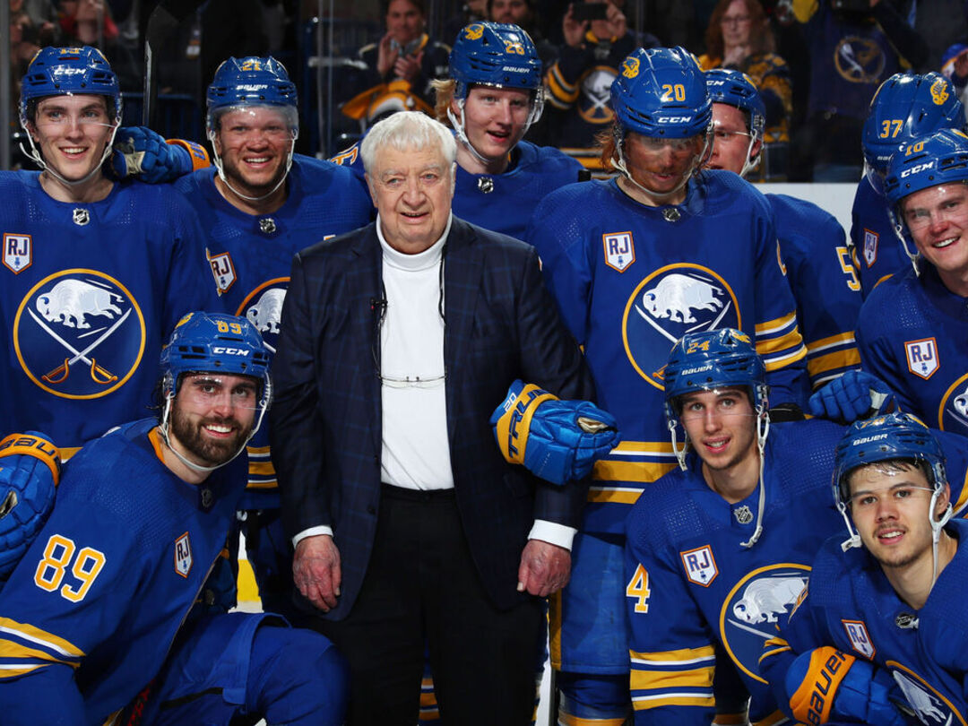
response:
[[[135,298],[95,270],[46,277],[26,294],[14,319],[24,373],[61,398],[100,398],[124,385],[144,345],[144,318]]]

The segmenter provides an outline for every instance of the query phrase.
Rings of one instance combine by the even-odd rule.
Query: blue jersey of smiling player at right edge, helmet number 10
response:
[[[968,436],[968,304],[924,260],[879,285],[857,326],[863,369],[884,380],[902,410]]]

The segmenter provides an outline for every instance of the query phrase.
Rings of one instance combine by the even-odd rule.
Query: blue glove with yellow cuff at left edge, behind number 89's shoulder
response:
[[[59,480],[60,453],[43,434],[0,441],[0,583],[44,526]]]

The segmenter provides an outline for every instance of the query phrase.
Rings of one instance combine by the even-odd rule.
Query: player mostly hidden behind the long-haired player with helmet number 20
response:
[[[745,176],[760,163],[766,107],[752,80],[739,71],[706,72],[712,101],[712,154],[707,166]],[[766,195],[787,279],[797,299],[810,385],[819,388],[860,368],[854,326],[861,312],[861,283],[843,227],[816,204]]]

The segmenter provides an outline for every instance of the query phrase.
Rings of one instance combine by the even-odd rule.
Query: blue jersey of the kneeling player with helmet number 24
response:
[[[635,723],[709,726],[715,713],[716,650],[733,662],[752,696],[750,720],[778,723],[757,660],[803,588],[824,540],[843,529],[831,491],[833,452],[844,429],[828,421],[774,424],[759,489],[730,504],[689,454],[646,488],[626,521],[626,613]]]

